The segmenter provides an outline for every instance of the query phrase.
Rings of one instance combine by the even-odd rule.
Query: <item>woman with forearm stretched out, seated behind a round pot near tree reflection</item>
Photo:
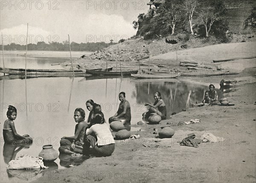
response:
[[[162,120],[166,119],[166,105],[161,98],[161,93],[160,92],[155,92],[154,93],[154,104],[151,105],[149,103],[145,103],[145,106],[150,106],[150,108],[144,112],[143,115],[143,120],[148,121],[148,117],[150,116],[151,113],[157,113]]]

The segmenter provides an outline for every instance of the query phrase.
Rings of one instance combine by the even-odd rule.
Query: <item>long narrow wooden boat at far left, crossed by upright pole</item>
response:
[[[19,74],[25,75],[25,69],[11,69],[11,68],[2,68],[0,67],[0,72],[4,74]],[[27,75],[72,75],[72,70],[64,70],[64,69],[26,69]],[[74,70],[74,74],[86,74],[81,70]]]

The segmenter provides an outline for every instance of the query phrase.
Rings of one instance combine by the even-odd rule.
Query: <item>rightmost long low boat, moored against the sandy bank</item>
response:
[[[222,71],[183,71],[180,73],[180,76],[190,77],[190,76],[219,76],[219,75],[229,75],[229,74],[239,74],[239,72],[231,72],[229,70],[222,70]]]

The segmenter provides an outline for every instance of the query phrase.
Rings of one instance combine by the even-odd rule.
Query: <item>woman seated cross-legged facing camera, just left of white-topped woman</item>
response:
[[[78,155],[76,153],[82,154],[85,130],[88,127],[87,123],[84,121],[85,112],[81,108],[77,108],[74,113],[74,119],[76,121],[75,135],[71,137],[62,137],[59,147],[60,153]]]

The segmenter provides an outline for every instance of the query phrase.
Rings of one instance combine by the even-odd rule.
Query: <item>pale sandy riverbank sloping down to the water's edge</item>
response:
[[[232,56],[232,53],[227,54],[232,50],[231,45],[221,47],[226,51],[219,52],[218,57]],[[209,54],[207,51],[191,53],[195,60],[204,60]],[[250,53],[253,54],[253,51]],[[242,54],[239,55],[244,56]],[[215,57],[207,61],[212,63],[212,59]],[[232,64],[231,61],[230,66]],[[256,69],[253,67],[237,75],[197,77],[191,80],[219,83],[224,78],[255,77]],[[242,84],[236,86],[233,92],[226,93],[225,97],[233,101],[235,106],[201,107],[175,114],[159,125],[136,125],[134,127],[142,130],[131,134],[140,134],[141,138],[117,141],[110,157],[90,158],[80,166],[51,172],[50,176],[45,175],[37,182],[256,182],[255,89],[256,83]],[[195,118],[200,119],[201,123],[178,125],[180,121]],[[171,139],[156,142],[158,138],[153,134],[153,129],[162,126],[172,126],[175,135]],[[180,146],[178,143],[187,134],[195,133],[196,138],[200,138],[201,134],[207,132],[223,137],[224,141],[202,143],[198,148]]]

